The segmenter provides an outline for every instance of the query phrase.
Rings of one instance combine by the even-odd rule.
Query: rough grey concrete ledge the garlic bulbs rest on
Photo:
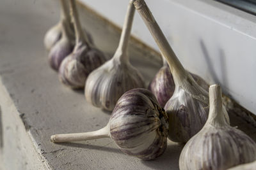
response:
[[[156,160],[120,152],[111,139],[54,144],[56,133],[93,131],[108,123],[109,112],[86,103],[83,90],[61,85],[47,63],[44,34],[59,16],[56,1],[1,0],[0,106],[3,163],[6,169],[179,169],[182,146],[168,141]],[[95,44],[113,55],[120,31],[79,6]],[[161,61],[132,41],[131,62],[150,81]],[[255,127],[231,115],[233,125],[256,139]]]

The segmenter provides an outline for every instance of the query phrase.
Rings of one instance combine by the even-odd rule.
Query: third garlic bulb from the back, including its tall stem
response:
[[[68,87],[79,89],[84,87],[88,74],[102,65],[106,57],[90,43],[86,34],[83,34],[74,0],[70,0],[70,7],[76,32],[76,45],[73,52],[61,62],[59,78]]]

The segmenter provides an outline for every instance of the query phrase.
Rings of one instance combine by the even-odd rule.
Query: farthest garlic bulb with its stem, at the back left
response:
[[[68,5],[65,0],[60,0],[61,4],[61,13],[60,13],[60,22],[54,25],[51,29],[49,29],[44,37],[44,45],[45,48],[49,51],[52,46],[54,46],[61,38],[62,34],[62,20],[70,21],[70,16],[68,15]],[[70,25],[68,25],[70,26]]]

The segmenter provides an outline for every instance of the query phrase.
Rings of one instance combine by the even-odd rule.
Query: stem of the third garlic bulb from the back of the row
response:
[[[82,42],[90,46],[88,37],[86,34],[83,33],[81,23],[79,22],[79,15],[76,7],[76,0],[70,0],[70,9],[71,9],[72,22],[73,22],[75,33],[76,33],[76,44],[79,42]]]

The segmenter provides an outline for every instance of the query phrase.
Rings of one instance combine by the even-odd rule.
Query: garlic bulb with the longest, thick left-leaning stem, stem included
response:
[[[204,126],[209,113],[209,94],[202,89],[176,57],[152,13],[143,0],[134,0],[134,6],[155,39],[168,62],[175,83],[173,96],[164,106],[169,117],[168,138],[186,143]],[[227,117],[227,122],[228,122]]]

